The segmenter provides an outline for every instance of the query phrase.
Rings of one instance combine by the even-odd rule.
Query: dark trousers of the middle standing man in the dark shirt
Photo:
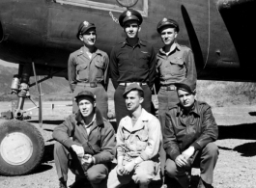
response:
[[[152,103],[152,93],[147,85],[142,85],[141,88],[144,91],[144,101],[142,102],[142,108],[147,112],[151,113],[151,103]],[[119,85],[114,94],[115,101],[115,113],[116,113],[116,122],[117,126],[119,122],[126,116],[128,116],[128,108],[126,105],[126,99],[123,97],[125,93],[126,86]]]

